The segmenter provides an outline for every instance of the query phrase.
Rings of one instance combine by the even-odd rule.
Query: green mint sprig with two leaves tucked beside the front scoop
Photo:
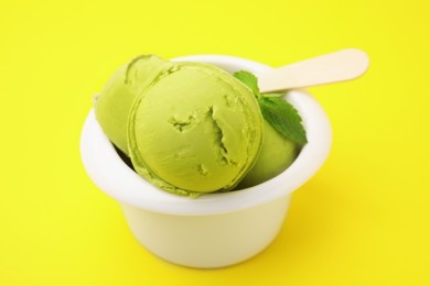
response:
[[[258,79],[249,72],[240,70],[233,76],[252,90],[262,117],[275,130],[300,146],[308,143],[299,112],[281,98],[282,94],[260,94]]]

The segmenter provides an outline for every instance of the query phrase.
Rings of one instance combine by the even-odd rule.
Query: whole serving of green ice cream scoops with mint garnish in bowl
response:
[[[122,66],[95,112],[139,175],[191,197],[264,183],[305,143],[297,111],[281,95],[260,95],[254,75],[154,55]]]

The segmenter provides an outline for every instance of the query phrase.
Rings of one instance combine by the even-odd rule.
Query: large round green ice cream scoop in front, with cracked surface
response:
[[[206,64],[176,63],[135,101],[129,154],[138,174],[186,196],[233,189],[252,167],[264,120],[251,90]]]

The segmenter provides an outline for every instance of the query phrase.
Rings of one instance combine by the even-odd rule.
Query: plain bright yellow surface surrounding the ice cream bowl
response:
[[[430,285],[428,1],[110,2],[0,3],[0,285]],[[279,66],[344,47],[372,67],[311,89],[332,153],[249,262],[152,256],[83,169],[90,97],[136,54]]]

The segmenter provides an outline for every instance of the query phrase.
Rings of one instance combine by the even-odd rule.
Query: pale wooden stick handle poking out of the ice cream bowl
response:
[[[366,53],[342,50],[268,70],[258,75],[258,86],[260,92],[272,92],[350,80],[363,75],[368,65]]]

